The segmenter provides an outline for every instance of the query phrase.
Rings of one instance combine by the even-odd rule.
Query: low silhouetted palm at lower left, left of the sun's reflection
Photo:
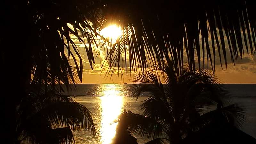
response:
[[[75,130],[95,134],[89,110],[55,90],[30,92],[17,111],[16,143],[68,144]]]

